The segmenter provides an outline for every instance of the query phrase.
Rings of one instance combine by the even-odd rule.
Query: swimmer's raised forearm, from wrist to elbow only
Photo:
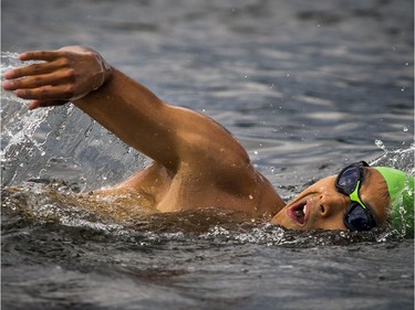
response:
[[[125,143],[167,168],[177,167],[174,108],[122,72],[113,70],[105,85],[73,103]]]

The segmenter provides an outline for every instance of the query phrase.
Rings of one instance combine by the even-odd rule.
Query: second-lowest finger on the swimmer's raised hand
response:
[[[69,100],[74,97],[74,87],[71,84],[43,86],[39,88],[18,89],[14,94],[22,99]]]

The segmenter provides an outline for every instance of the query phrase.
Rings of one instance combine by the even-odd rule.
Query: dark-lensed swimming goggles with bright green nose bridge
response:
[[[351,200],[343,218],[344,225],[351,231],[370,231],[376,226],[372,212],[359,196],[363,181],[363,167],[369,167],[369,164],[365,161],[352,163],[343,168],[335,179],[338,192]]]

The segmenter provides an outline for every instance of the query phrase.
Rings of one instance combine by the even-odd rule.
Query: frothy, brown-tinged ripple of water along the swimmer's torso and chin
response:
[[[256,244],[267,247],[313,247],[350,245],[354,243],[385,243],[400,238],[398,232],[376,228],[371,232],[287,231],[267,220],[243,221],[236,212],[196,210],[170,214],[137,216],[129,223],[112,222],[85,207],[79,206],[77,196],[68,184],[54,182],[25,183],[24,186],[3,191],[2,213],[11,218],[27,221],[31,227],[39,223],[53,224],[64,229],[82,229],[87,239],[122,242],[126,245],[154,246],[163,243],[194,240],[215,246]],[[105,207],[102,205],[102,207]],[[20,222],[19,222],[20,223]],[[21,223],[18,225],[21,225]],[[20,227],[20,226],[19,226]],[[9,227],[11,228],[11,227]],[[77,233],[76,233],[77,234]]]

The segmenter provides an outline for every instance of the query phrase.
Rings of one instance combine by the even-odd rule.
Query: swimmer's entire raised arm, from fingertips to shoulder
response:
[[[91,49],[28,52],[20,58],[44,61],[4,75],[9,82],[3,88],[32,99],[32,109],[71,100],[124,142],[170,170],[183,162],[195,168],[228,161],[240,168],[249,162],[220,125],[163,103]]]

